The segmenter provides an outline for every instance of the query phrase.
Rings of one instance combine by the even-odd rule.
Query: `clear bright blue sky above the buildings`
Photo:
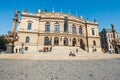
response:
[[[70,13],[71,15],[87,17],[90,21],[95,18],[99,23],[99,31],[103,27],[115,29],[120,32],[120,0],[0,0],[0,35],[7,34],[12,29],[14,9],[28,9],[35,13],[37,9],[55,12]]]

